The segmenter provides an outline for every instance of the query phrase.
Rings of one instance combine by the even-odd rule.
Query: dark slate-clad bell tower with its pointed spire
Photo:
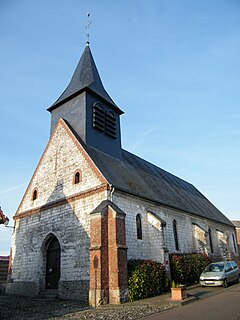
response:
[[[48,111],[51,133],[63,118],[86,145],[121,159],[123,111],[104,89],[88,41],[69,85]]]

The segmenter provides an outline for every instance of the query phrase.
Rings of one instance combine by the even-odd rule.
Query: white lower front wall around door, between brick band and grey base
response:
[[[14,281],[44,282],[44,244],[51,234],[61,246],[60,281],[88,280],[90,212],[105,198],[102,192],[18,220],[12,241]]]

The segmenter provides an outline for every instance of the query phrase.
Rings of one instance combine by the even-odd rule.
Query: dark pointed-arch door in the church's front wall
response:
[[[60,279],[60,245],[51,238],[47,246],[46,289],[57,289]]]

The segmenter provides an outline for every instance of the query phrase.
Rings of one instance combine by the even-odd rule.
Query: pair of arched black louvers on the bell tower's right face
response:
[[[105,111],[100,103],[93,105],[93,127],[107,134],[111,138],[116,138],[116,117],[112,111]]]

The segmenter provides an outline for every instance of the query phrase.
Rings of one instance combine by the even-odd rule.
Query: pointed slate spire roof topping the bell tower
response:
[[[85,50],[78,62],[77,68],[73,73],[69,85],[62,95],[57,99],[57,101],[54,102],[50,108],[48,108],[48,111],[52,111],[62,103],[70,100],[86,89],[94,92],[98,96],[102,97],[105,101],[110,103],[115,109],[118,110],[119,114],[123,113],[123,111],[117,107],[104,89],[88,44],[86,45]]]

